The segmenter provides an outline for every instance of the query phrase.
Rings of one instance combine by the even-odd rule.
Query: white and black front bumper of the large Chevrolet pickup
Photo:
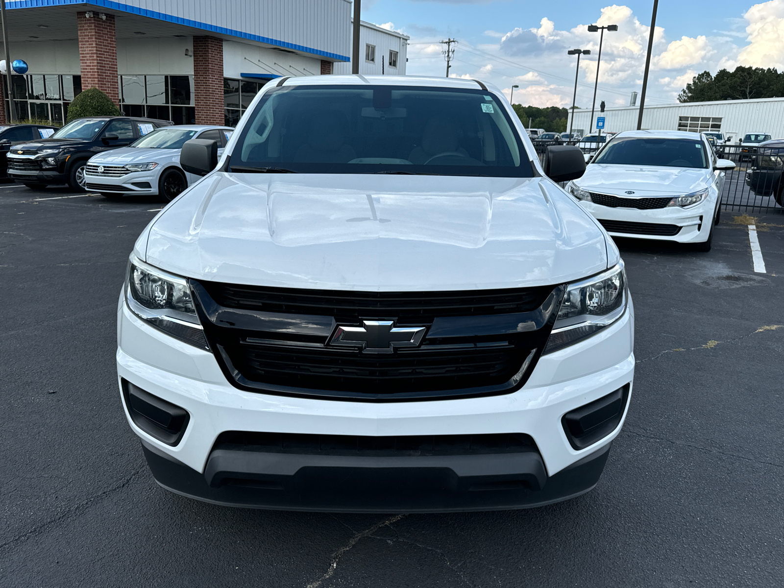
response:
[[[587,492],[597,483],[628,402],[615,430],[583,449],[570,445],[561,418],[630,384],[634,371],[631,303],[614,325],[543,356],[521,390],[448,401],[376,404],[238,390],[227,382],[211,353],[151,328],[131,314],[122,299],[118,343],[121,388],[125,379],[190,416],[181,441],[166,445],[133,423],[123,400],[158,484],[209,502],[287,510],[506,509]],[[314,456],[253,452],[226,455],[215,449],[225,431],[365,437],[521,433],[532,437],[537,452],[481,459],[441,456],[430,463],[423,458],[336,461],[318,456],[319,461]],[[216,484],[218,470],[237,470],[242,478],[264,474],[265,484]],[[267,485],[270,476],[274,488]],[[504,485],[510,479],[516,484]],[[520,484],[526,480],[530,483]],[[482,490],[475,489],[477,484]]]

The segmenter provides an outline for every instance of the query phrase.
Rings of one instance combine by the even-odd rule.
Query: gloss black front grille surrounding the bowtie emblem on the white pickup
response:
[[[539,358],[563,289],[348,292],[191,281],[230,381],[246,390],[373,401],[506,394]],[[332,347],[338,325],[421,326],[418,347]],[[521,369],[524,365],[527,369]]]

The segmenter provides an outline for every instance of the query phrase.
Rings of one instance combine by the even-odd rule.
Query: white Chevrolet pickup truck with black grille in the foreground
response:
[[[158,484],[212,503],[411,512],[597,484],[626,416],[618,249],[499,89],[282,78],[158,214],[118,303],[118,383]],[[217,166],[217,167],[216,167]]]

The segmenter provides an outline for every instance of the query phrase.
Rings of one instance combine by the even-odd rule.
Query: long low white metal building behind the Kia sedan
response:
[[[611,132],[637,129],[639,107],[607,108],[593,115],[604,116],[604,130]],[[571,121],[570,121],[571,122]],[[589,132],[590,110],[575,111],[574,128]],[[567,128],[569,126],[567,125]],[[759,100],[720,100],[716,102],[686,102],[646,105],[642,118],[643,129],[681,131],[719,131],[731,136],[732,142],[741,140],[748,132],[764,132],[774,139],[784,137],[784,98]]]

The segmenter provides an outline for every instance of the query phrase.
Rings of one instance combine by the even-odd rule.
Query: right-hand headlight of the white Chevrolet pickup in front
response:
[[[626,311],[623,261],[593,278],[569,284],[543,354],[587,339],[612,325]]]

